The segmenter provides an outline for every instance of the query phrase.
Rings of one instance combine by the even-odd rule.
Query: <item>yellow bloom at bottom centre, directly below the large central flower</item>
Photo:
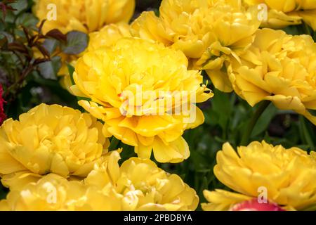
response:
[[[199,198],[195,190],[176,174],[167,174],[151,160],[130,158],[118,164],[119,153],[109,154],[105,162],[84,180],[86,185],[115,193],[120,210],[195,210]],[[111,184],[111,185],[110,185]]]

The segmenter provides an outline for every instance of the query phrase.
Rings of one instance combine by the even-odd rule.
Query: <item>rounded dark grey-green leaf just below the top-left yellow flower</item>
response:
[[[70,55],[77,55],[88,46],[88,34],[79,31],[67,33],[67,44],[62,45],[62,52]]]

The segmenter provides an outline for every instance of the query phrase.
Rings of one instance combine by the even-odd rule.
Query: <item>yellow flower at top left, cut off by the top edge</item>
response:
[[[134,8],[135,0],[35,0],[33,12],[46,20],[44,33],[53,29],[90,33],[110,23],[128,23]]]

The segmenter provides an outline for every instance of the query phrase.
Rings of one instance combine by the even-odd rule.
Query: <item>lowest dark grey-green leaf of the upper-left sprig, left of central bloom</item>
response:
[[[57,79],[58,71],[61,67],[60,56],[51,58],[50,61],[39,64],[39,72],[46,79]]]

